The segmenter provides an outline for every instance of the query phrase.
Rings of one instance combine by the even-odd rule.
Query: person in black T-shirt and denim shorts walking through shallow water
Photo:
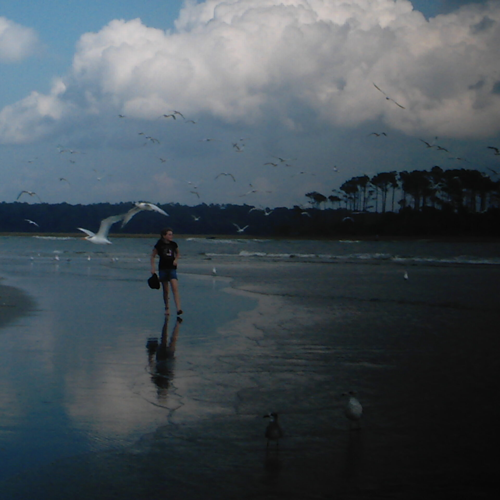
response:
[[[159,256],[158,278],[163,288],[163,302],[165,303],[165,314],[169,314],[168,309],[168,283],[173,293],[173,301],[177,309],[177,316],[182,314],[180,308],[180,296],[177,283],[177,260],[179,258],[179,247],[173,238],[173,231],[170,227],[162,229],[160,238],[156,241],[151,253],[151,274],[155,273],[154,258]]]

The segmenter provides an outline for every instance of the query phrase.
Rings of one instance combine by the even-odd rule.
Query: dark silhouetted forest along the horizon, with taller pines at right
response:
[[[157,234],[171,226],[180,234],[238,236],[500,236],[500,181],[478,170],[434,166],[429,171],[381,172],[372,178],[352,177],[332,192],[308,192],[307,206],[272,210],[247,204],[157,203],[168,217],[139,212],[124,228],[115,224],[110,232]],[[0,232],[79,234],[77,227],[96,231],[103,218],[133,206],[2,202]],[[248,227],[238,233],[235,224]]]

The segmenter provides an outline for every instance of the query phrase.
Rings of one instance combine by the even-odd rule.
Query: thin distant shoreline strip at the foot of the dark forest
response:
[[[41,237],[73,237],[82,238],[81,233],[76,232],[0,232],[1,236],[41,236]],[[157,238],[159,234],[156,233],[109,233],[112,238]],[[448,243],[461,243],[461,242],[477,242],[477,243],[495,243],[500,242],[500,237],[494,236],[401,236],[401,235],[380,235],[374,236],[372,234],[351,234],[351,235],[338,235],[333,236],[268,236],[268,235],[255,235],[255,234],[182,234],[175,233],[176,238],[205,238],[205,239],[275,239],[275,240],[308,240],[308,241],[429,241],[429,242],[448,242]]]

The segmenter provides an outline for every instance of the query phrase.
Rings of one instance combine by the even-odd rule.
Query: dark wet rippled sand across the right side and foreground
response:
[[[193,349],[189,359],[181,347],[192,313],[185,308],[175,366],[156,365],[160,423],[133,443],[14,474],[0,482],[2,498],[493,491],[498,266],[225,256],[212,276],[214,260],[186,257],[182,273],[217,281],[221,293],[253,305],[218,328],[220,343]],[[343,413],[349,390],[363,405],[359,430]],[[266,447],[269,411],[283,428],[278,447]]]

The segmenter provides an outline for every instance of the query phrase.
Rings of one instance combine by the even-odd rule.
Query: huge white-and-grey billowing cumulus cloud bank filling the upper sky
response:
[[[175,27],[113,20],[83,34],[63,83],[1,111],[0,138],[25,141],[85,114],[172,109],[294,131],[304,116],[324,126],[382,119],[410,135],[500,131],[496,1],[428,21],[406,0],[186,1]]]

